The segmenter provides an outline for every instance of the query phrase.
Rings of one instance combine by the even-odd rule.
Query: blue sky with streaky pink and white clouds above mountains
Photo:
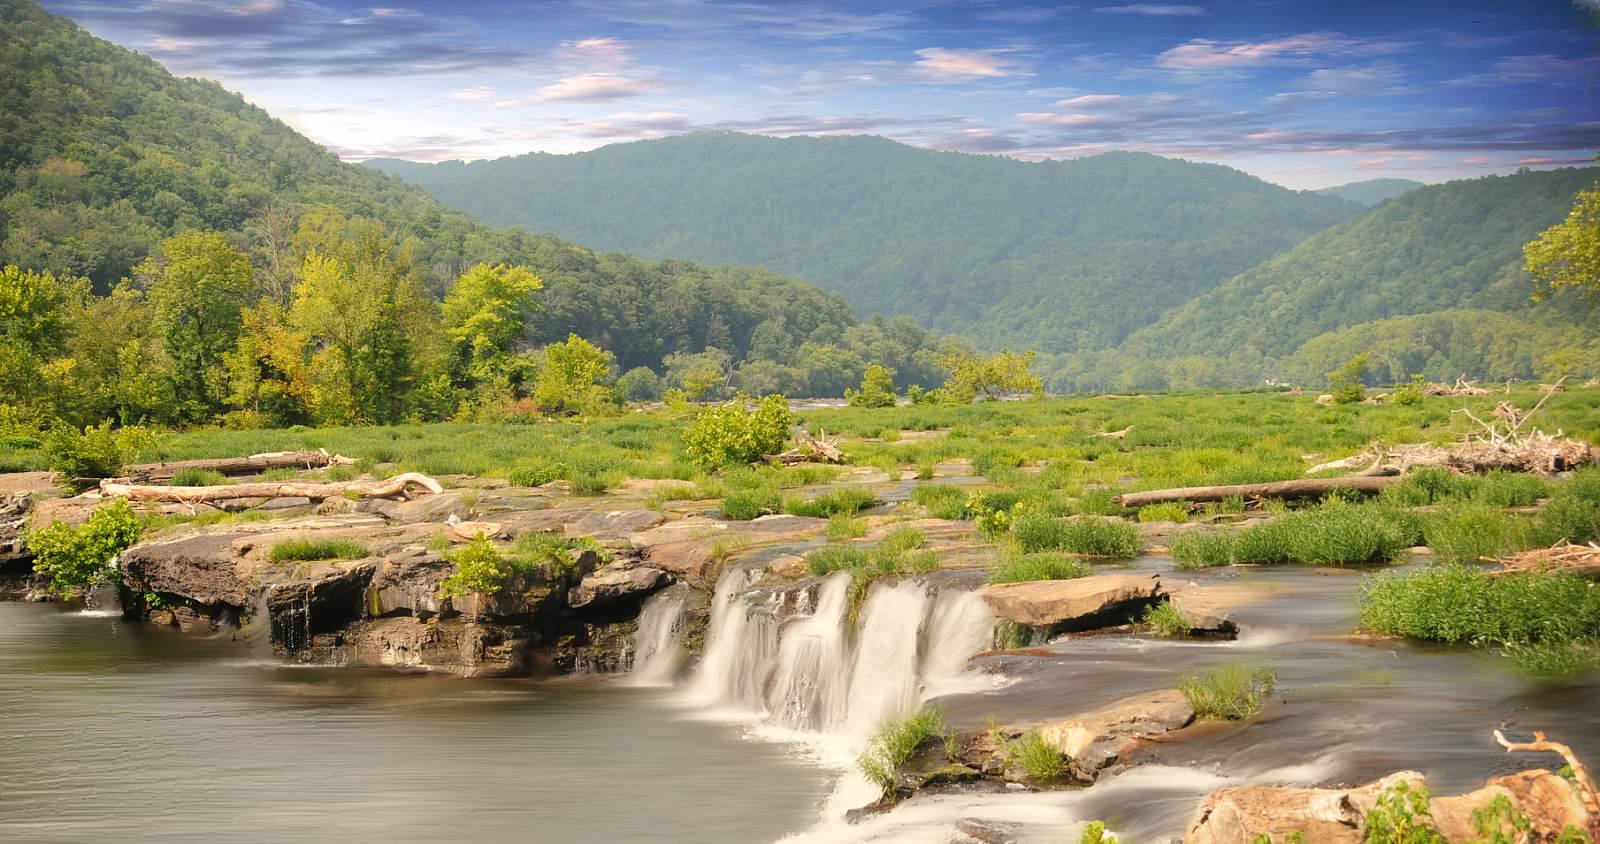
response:
[[[1144,150],[1315,189],[1600,147],[1600,0],[43,5],[352,161],[736,129],[1029,160]]]

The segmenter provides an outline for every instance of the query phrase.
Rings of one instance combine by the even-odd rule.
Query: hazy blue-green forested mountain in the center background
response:
[[[867,313],[1046,352],[1114,345],[1360,211],[1155,155],[1030,163],[882,137],[702,133],[578,155],[370,165],[488,222],[758,264]]]

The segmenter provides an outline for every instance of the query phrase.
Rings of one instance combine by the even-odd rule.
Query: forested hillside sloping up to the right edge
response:
[[[1074,385],[1306,382],[1338,355],[1378,344],[1395,369],[1421,372],[1434,361],[1432,374],[1541,376],[1547,353],[1581,360],[1594,328],[1573,297],[1531,307],[1522,249],[1597,177],[1595,168],[1523,171],[1408,192],[1174,309],[1115,360],[1053,368],[1085,379]]]

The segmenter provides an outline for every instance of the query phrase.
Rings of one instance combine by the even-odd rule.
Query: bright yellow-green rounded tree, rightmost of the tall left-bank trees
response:
[[[451,363],[470,380],[483,380],[498,358],[522,336],[538,307],[533,294],[544,281],[526,267],[478,264],[456,278],[445,297],[445,332]]]

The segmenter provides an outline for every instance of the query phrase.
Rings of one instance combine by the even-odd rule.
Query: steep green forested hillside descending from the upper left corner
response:
[[[218,237],[163,246],[194,232]],[[482,225],[418,187],[341,163],[211,82],[176,78],[29,0],[0,0],[0,264],[51,273],[54,281],[38,288],[42,301],[70,312],[66,331],[38,348],[22,348],[18,332],[0,329],[0,393],[8,395],[0,403],[54,390],[80,400],[58,408],[69,419],[157,414],[163,404],[154,398],[107,396],[120,388],[118,371],[184,366],[170,348],[178,340],[158,336],[160,302],[152,299],[173,267],[198,261],[232,273],[232,256],[243,256],[248,278],[222,297],[235,305],[222,320],[230,326],[224,339],[240,331],[262,339],[315,328],[291,313],[306,299],[312,253],[342,256],[347,272],[381,270],[389,286],[371,288],[381,296],[419,291],[416,302],[386,305],[386,318],[413,305],[426,316],[405,337],[410,374],[397,384],[408,390],[445,366],[440,301],[480,264],[520,265],[542,280],[507,352],[579,334],[603,347],[616,371],[661,372],[677,361],[680,369],[693,363],[738,376],[749,363],[742,374],[752,387],[837,395],[859,382],[872,358],[896,366],[904,380],[938,380],[933,339],[909,321],[859,324],[838,294],[765,270],[598,254],[552,235]],[[78,286],[77,278],[88,281]],[[123,278],[130,281],[118,286]],[[258,304],[277,309],[275,316],[253,310]],[[349,302],[330,307],[333,315],[352,312]],[[325,340],[315,331],[307,337],[309,361]],[[203,408],[178,419],[222,411],[224,382],[248,369],[222,372],[218,355],[205,363],[218,371],[194,376],[214,382],[195,396]],[[173,377],[163,379],[163,388],[173,387]],[[434,401],[427,412],[448,406]]]

